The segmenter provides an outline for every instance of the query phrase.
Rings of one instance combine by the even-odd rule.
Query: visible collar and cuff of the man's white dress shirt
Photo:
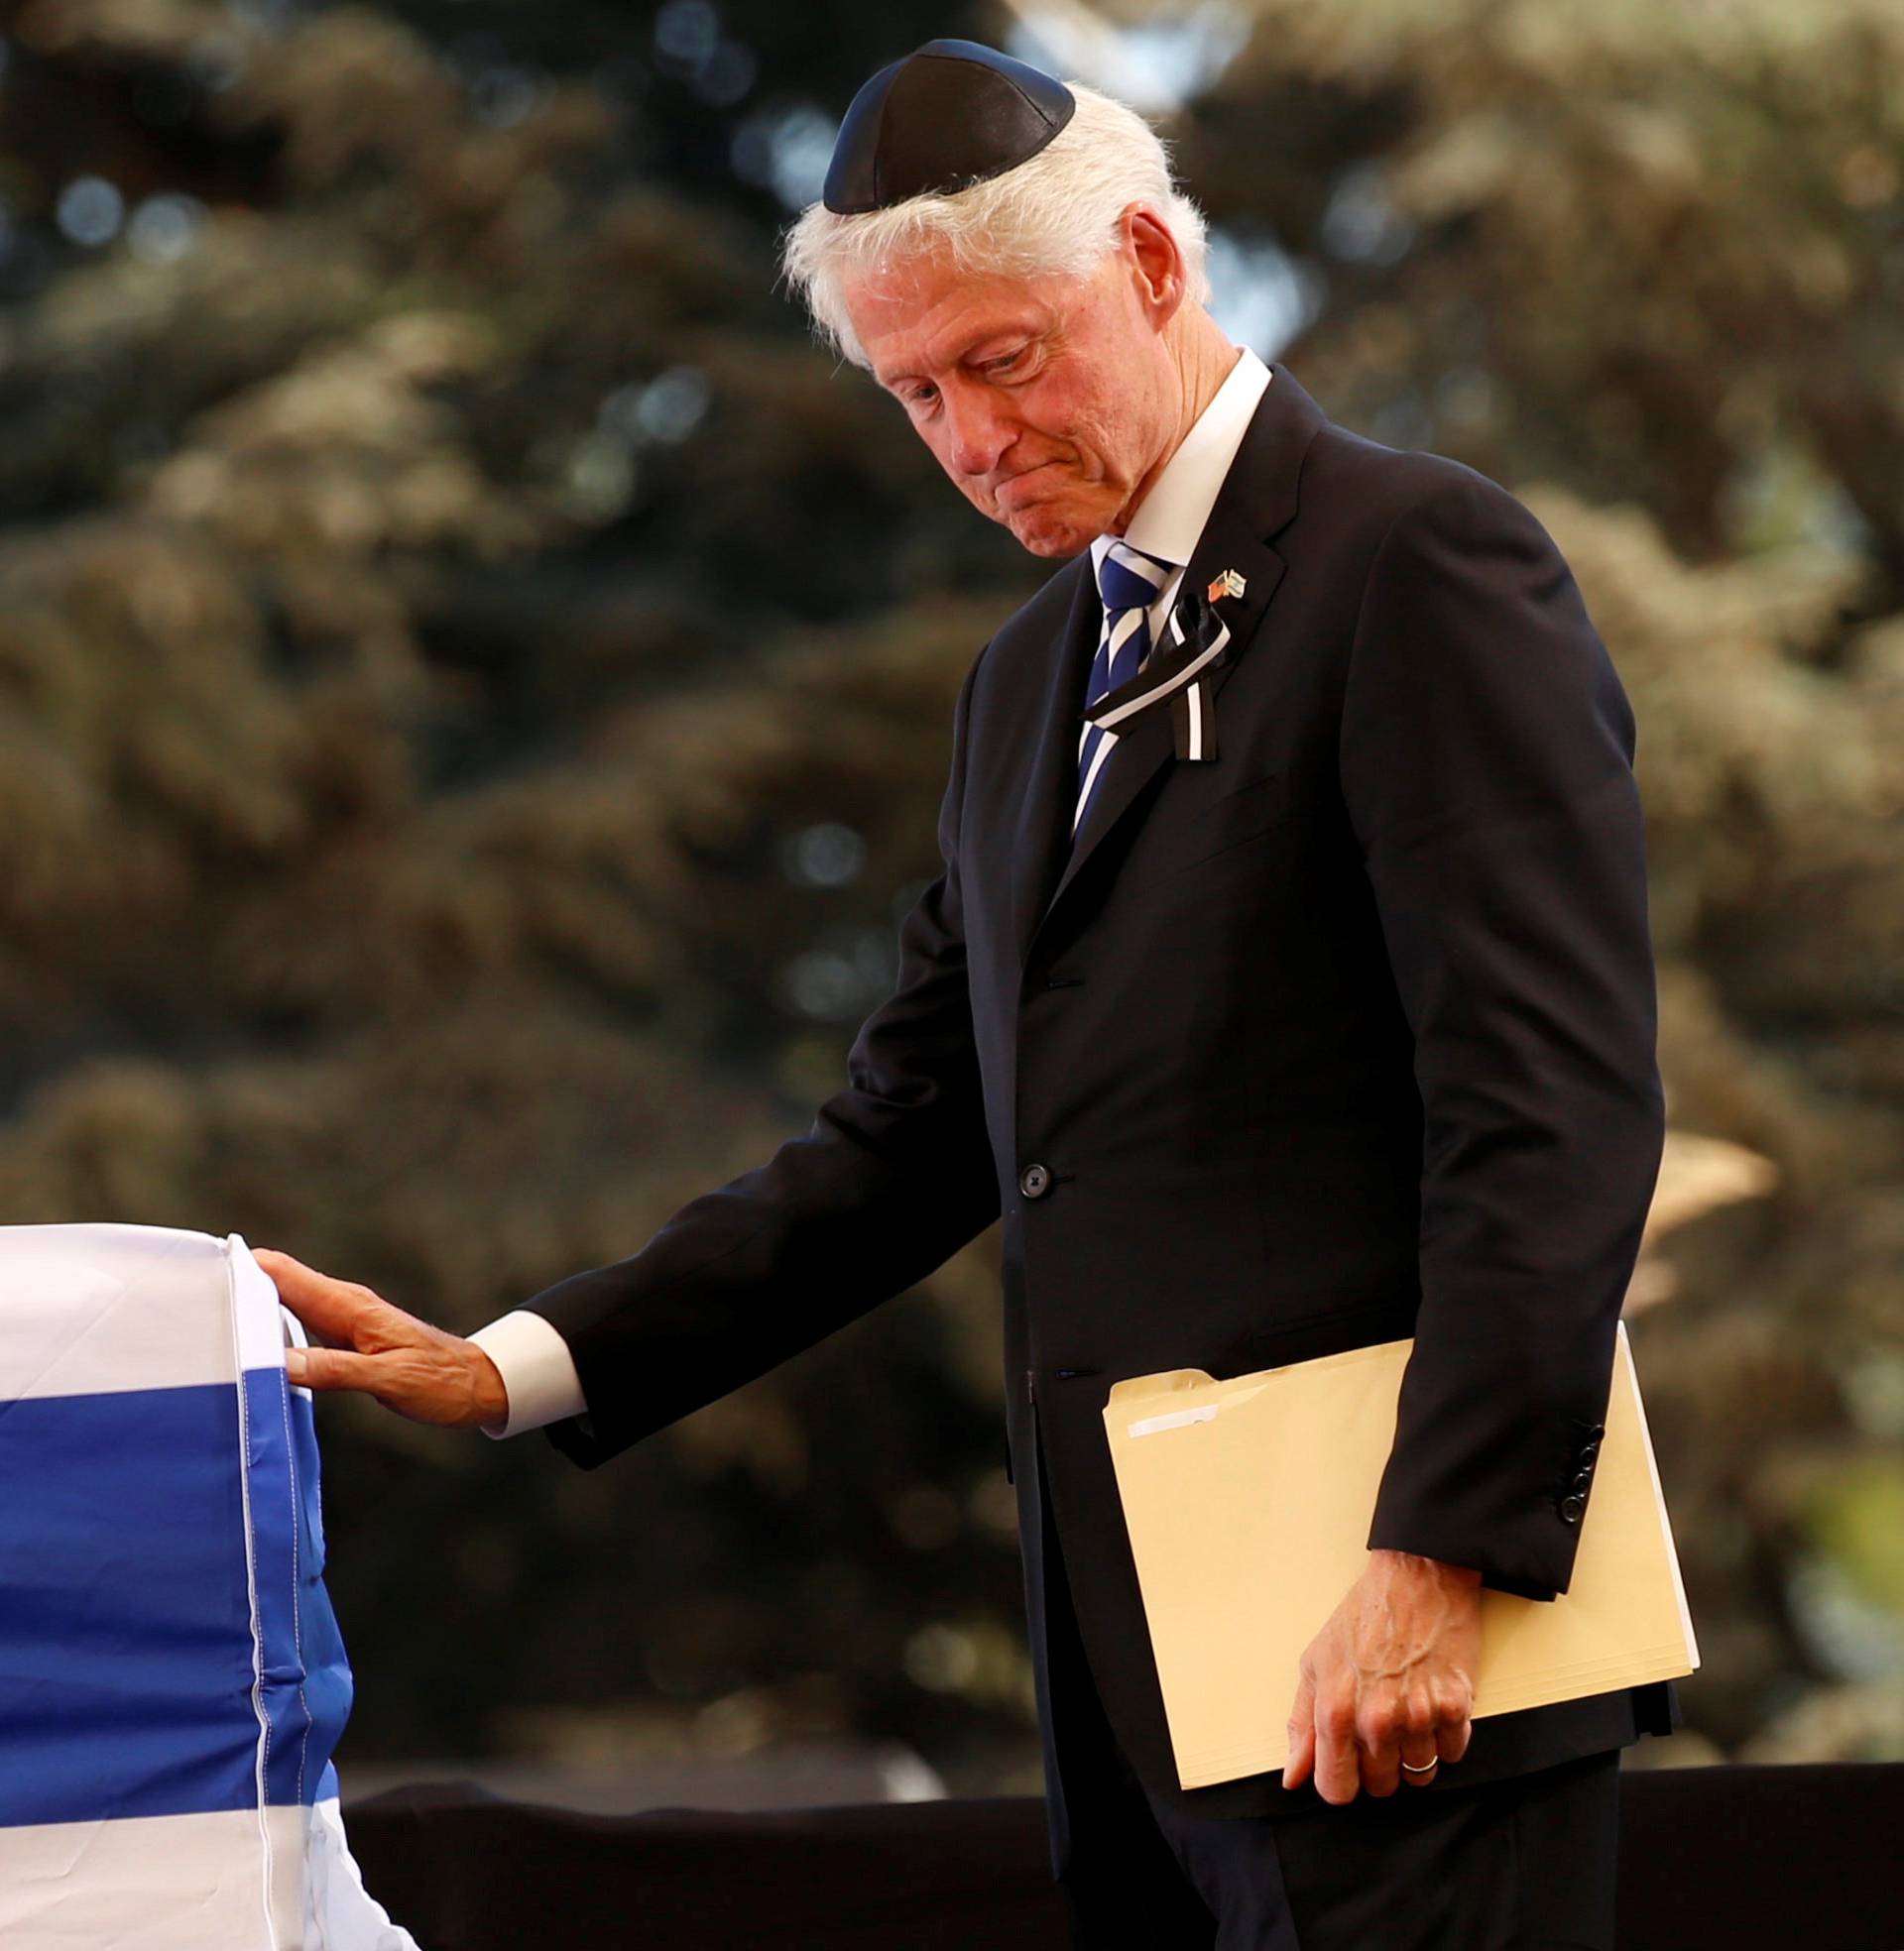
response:
[[[1196,554],[1196,544],[1217,503],[1223,478],[1229,474],[1243,433],[1270,384],[1270,369],[1245,345],[1210,406],[1198,414],[1182,445],[1151,482],[1149,494],[1137,503],[1124,540],[1159,562],[1174,564],[1157,601],[1149,611],[1151,644],[1165,642],[1165,626],[1184,566]],[[1096,576],[1104,550],[1114,537],[1100,535],[1091,544],[1091,574]],[[509,1418],[484,1428],[486,1436],[517,1436],[544,1422],[587,1413],[581,1377],[568,1342],[536,1313],[517,1307],[513,1313],[478,1329],[472,1336],[503,1377],[509,1395]]]

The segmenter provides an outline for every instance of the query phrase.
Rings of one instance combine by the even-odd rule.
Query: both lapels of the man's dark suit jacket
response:
[[[1274,654],[1272,644],[1256,644],[1284,574],[1284,560],[1268,546],[1268,537],[1282,531],[1295,515],[1295,482],[1303,451],[1325,419],[1323,410],[1295,384],[1288,367],[1272,361],[1270,373],[1272,380],[1184,572],[1188,589],[1206,589],[1223,570],[1235,570],[1245,579],[1241,597],[1223,597],[1217,603],[1217,615],[1229,624],[1231,638],[1229,650],[1211,671],[1210,695],[1217,702],[1243,656]],[[1174,755],[1169,706],[1133,718],[1104,761],[1091,810],[1067,853],[1071,812],[1077,804],[1077,736],[1091,659],[1091,650],[1085,646],[1096,644],[1102,618],[1091,558],[1085,556],[1081,562],[1071,615],[1048,673],[1038,747],[1018,817],[1012,905],[1020,968],[1030,958],[1040,927],[1065,901],[1085,862],[1124,823],[1145,784]],[[1217,710],[1219,751],[1221,743],[1223,714]]]

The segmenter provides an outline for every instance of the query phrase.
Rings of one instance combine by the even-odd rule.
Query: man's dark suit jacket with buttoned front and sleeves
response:
[[[1219,757],[1130,720],[1067,847],[1102,613],[1089,554],[1059,570],[964,681],[944,872],[847,1089],[529,1303],[589,1403],[552,1436],[597,1463],[1003,1214],[1034,1660],[1042,1457],[1098,1692],[1170,1795],[1110,1383],[1412,1334],[1369,1545],[1565,1592],[1664,1130],[1633,714],[1567,564],[1494,482],[1272,373],[1186,577],[1247,585]],[[1481,1721],[1440,1783],[1670,1725],[1664,1688]]]

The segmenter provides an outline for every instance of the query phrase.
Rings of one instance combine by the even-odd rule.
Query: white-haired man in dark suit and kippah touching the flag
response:
[[[1235,347],[1149,127],[991,49],[860,90],[786,261],[1071,558],[966,675],[897,989],[804,1135],[472,1342],[261,1254],[343,1344],[306,1379],[593,1465],[1003,1214],[1079,1943],[1607,1945],[1619,1750],[1670,1690],[1469,1723],[1481,1588],[1570,1576],[1662,1139],[1633,718],[1567,564]],[[1104,1395],[1408,1334],[1289,1766],[1186,1793]]]

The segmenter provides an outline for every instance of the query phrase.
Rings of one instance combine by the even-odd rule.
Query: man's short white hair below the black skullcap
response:
[[[954,193],[929,191],[884,211],[839,217],[810,203],[788,226],[780,267],[813,328],[868,367],[841,295],[845,277],[903,263],[934,248],[977,275],[1046,277],[1092,271],[1116,248],[1131,203],[1155,211],[1184,256],[1186,293],[1210,300],[1204,213],[1176,187],[1157,131],[1131,107],[1079,82],[1071,121],[1028,162]]]

